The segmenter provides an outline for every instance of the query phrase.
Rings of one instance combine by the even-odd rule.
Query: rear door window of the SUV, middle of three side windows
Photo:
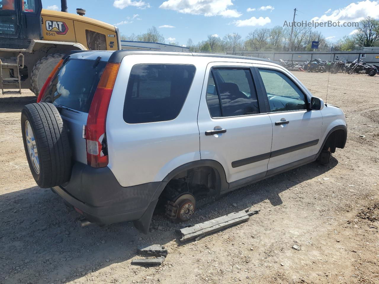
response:
[[[259,113],[250,70],[215,69],[213,74],[215,78],[211,73],[207,87],[207,104],[212,117]]]

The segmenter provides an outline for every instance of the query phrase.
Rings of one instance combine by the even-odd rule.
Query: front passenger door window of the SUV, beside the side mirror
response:
[[[272,112],[307,109],[304,94],[290,78],[276,70],[259,69],[259,73]]]

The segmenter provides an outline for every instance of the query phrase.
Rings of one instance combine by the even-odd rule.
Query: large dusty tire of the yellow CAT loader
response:
[[[50,73],[63,56],[64,54],[62,53],[49,54],[42,57],[36,62],[36,64],[34,64],[33,69],[31,70],[30,83],[33,93],[36,96],[38,96],[47,77],[49,77]]]

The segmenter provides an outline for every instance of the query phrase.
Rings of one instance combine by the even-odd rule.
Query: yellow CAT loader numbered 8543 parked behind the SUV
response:
[[[0,85],[38,95],[50,72],[71,50],[119,50],[117,27],[67,12],[42,9],[41,0],[0,0]]]

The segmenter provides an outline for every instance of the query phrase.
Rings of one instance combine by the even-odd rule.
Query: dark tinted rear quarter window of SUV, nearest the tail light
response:
[[[195,75],[193,65],[138,64],[130,73],[124,104],[127,123],[177,117]]]

